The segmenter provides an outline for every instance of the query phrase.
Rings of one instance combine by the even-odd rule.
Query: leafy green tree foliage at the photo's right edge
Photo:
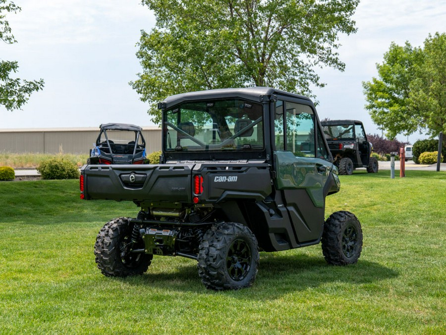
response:
[[[446,35],[436,33],[424,49],[394,43],[377,64],[379,78],[363,82],[366,109],[387,136],[416,131],[446,134]]]

